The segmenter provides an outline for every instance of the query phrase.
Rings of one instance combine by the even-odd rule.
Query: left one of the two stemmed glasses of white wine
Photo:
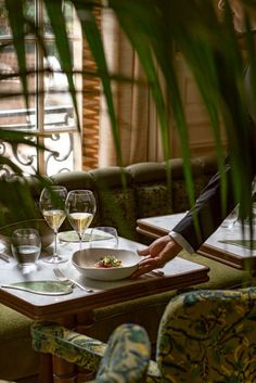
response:
[[[65,200],[67,196],[67,190],[64,187],[50,187],[44,188],[40,195],[39,206],[47,224],[52,228],[54,232],[54,252],[53,255],[43,258],[49,264],[60,264],[66,261],[67,258],[61,257],[56,250],[56,237],[61,225],[63,224],[65,213]]]

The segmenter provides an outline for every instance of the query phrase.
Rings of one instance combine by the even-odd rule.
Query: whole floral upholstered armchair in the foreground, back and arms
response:
[[[98,371],[95,382],[103,382],[101,376],[115,366],[110,360],[117,369],[120,363],[120,375],[127,378],[115,382],[143,382],[139,366],[148,368],[148,383],[256,382],[256,288],[192,291],[171,298],[159,323],[156,361],[149,367],[149,342],[132,331],[133,325],[125,324],[114,332],[119,348],[113,355],[113,337],[105,350],[101,342],[73,339],[74,333],[57,325],[35,324],[33,339],[37,350]]]

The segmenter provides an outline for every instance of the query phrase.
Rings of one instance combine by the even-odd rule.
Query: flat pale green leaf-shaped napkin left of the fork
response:
[[[73,292],[71,283],[61,281],[26,281],[2,284],[1,288],[28,291],[40,295],[65,295]]]

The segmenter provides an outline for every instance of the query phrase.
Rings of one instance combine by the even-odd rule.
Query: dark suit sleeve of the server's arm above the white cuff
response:
[[[227,208],[222,209],[220,196],[220,174],[216,174],[207,187],[202,191],[194,207],[176,225],[172,231],[181,234],[196,251],[202,243],[220,226],[225,217],[234,208],[233,193],[231,192],[230,165],[225,165],[228,193]],[[197,218],[197,220],[196,220]],[[197,221],[199,226],[195,225]]]

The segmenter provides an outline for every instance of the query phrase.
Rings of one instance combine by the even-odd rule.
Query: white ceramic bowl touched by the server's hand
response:
[[[99,268],[95,265],[101,257],[115,256],[121,260],[121,266]],[[116,281],[131,276],[137,270],[140,257],[136,252],[120,248],[92,247],[77,251],[72,263],[85,277],[100,281]]]

